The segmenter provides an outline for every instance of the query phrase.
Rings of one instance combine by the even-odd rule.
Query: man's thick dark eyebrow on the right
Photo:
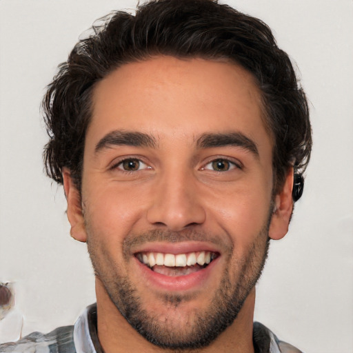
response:
[[[225,146],[240,147],[248,150],[256,158],[259,157],[259,150],[252,139],[241,132],[228,132],[225,134],[202,134],[196,141],[198,148],[216,148]]]

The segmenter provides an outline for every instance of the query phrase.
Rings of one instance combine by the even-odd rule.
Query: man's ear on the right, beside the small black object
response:
[[[274,196],[274,211],[269,230],[271,239],[282,239],[288,232],[288,226],[293,212],[293,180],[294,170],[291,167],[287,172],[281,192]]]

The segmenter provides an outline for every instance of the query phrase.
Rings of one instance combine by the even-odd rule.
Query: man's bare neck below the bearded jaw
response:
[[[145,352],[177,353],[179,350],[166,350],[145,340],[125,320],[112,303],[103,284],[96,278],[97,330],[98,338],[105,353]],[[208,347],[197,350],[181,350],[183,353],[254,353],[252,327],[255,304],[255,288],[252,289],[238,316],[223,333]]]

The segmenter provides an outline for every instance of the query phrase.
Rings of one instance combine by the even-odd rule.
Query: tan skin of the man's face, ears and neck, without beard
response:
[[[268,236],[281,239],[288,231],[293,170],[272,199],[273,143],[260,102],[250,73],[203,59],[128,63],[94,88],[81,197],[69,170],[63,170],[63,178],[71,234],[88,242],[96,270],[97,325],[105,352],[165,352],[125,320],[117,309],[119,298],[111,300],[117,278],[128,279],[155,322],[182,336],[212,307],[225,272],[232,288],[251,283],[253,272],[261,272]],[[117,131],[147,134],[154,145],[101,142]],[[197,143],[205,134],[230,133],[252,141],[256,152],[238,143]],[[128,158],[142,162],[137,170],[123,169]],[[229,169],[215,170],[216,159]],[[165,236],[154,241],[153,232]],[[175,253],[190,246],[210,248],[219,257],[202,281],[167,290],[134,256],[164,246]],[[254,351],[255,290],[254,283],[247,285],[240,290],[245,301],[236,319],[195,352]]]

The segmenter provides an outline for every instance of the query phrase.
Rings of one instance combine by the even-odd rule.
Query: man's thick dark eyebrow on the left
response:
[[[156,148],[157,141],[151,135],[143,132],[114,130],[99,140],[94,152],[97,153],[106,148],[119,145]]]

